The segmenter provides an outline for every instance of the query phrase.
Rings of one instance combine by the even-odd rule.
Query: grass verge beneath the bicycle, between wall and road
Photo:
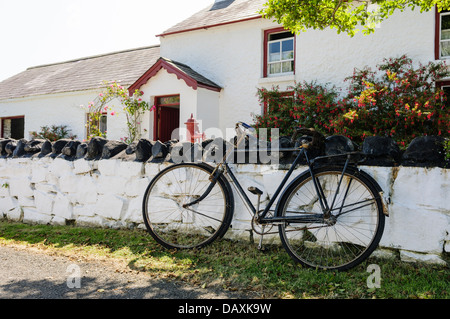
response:
[[[305,269],[278,246],[220,240],[193,251],[168,251],[142,230],[45,226],[0,221],[0,245],[26,245],[52,253],[107,258],[151,276],[191,285],[252,293],[257,298],[447,299],[448,267],[370,258],[347,272]],[[368,288],[368,267],[381,269],[380,288]],[[369,279],[370,280],[370,279]]]

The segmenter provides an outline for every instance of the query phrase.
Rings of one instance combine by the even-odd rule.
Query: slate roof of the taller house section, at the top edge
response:
[[[187,32],[223,24],[258,19],[267,0],[224,0],[197,12],[158,36]]]

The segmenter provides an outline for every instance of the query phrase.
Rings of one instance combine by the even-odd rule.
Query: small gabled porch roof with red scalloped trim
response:
[[[196,90],[198,87],[201,87],[208,90],[220,92],[220,90],[222,89],[219,85],[212,82],[211,80],[208,80],[203,75],[197,73],[185,64],[166,58],[159,58],[158,61],[147,72],[145,72],[134,84],[130,86],[130,94],[135,90],[139,90],[142,85],[147,83],[161,69],[165,69],[168,73],[176,75],[179,80],[183,80],[194,90]]]

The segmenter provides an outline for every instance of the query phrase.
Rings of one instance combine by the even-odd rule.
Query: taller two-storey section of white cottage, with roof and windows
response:
[[[257,88],[286,90],[295,82],[316,80],[345,89],[344,79],[354,68],[374,67],[383,58],[407,54],[428,63],[450,56],[450,13],[396,13],[369,36],[351,38],[334,30],[294,36],[261,18],[257,11],[265,2],[216,1],[159,35],[162,56],[189,65],[222,87],[211,110],[218,104],[222,131],[263,112]],[[198,108],[194,114],[202,120],[208,113]]]

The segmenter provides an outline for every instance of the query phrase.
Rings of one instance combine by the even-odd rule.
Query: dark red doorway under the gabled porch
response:
[[[157,97],[154,120],[154,140],[164,143],[172,139],[173,131],[180,127],[180,96]]]

